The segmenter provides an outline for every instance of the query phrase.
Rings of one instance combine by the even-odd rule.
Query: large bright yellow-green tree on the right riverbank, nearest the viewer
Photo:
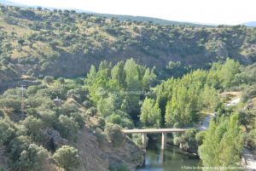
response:
[[[236,166],[241,161],[242,139],[238,116],[234,114],[222,120],[218,125],[214,121],[210,123],[203,144],[199,147],[205,167]]]

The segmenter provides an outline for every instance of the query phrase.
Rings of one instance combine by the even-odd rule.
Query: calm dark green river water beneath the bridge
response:
[[[197,166],[200,166],[200,159],[180,150],[177,146],[166,145],[166,150],[161,151],[160,142],[148,142],[145,167],[137,169],[137,171],[201,171],[188,168]]]

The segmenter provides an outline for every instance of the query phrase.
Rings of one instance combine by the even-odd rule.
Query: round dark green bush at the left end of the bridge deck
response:
[[[107,135],[107,139],[112,142],[113,146],[120,146],[125,141],[125,134],[122,132],[122,128],[119,125],[108,125],[104,130]]]

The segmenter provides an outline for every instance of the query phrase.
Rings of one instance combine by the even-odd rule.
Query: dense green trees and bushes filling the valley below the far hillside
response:
[[[130,59],[114,66],[107,61],[97,68],[91,66],[84,83],[81,79],[47,76],[43,84],[26,88],[24,111],[19,88],[9,89],[1,96],[0,142],[17,170],[40,170],[52,152],[58,166],[72,170],[80,161],[76,149],[49,140],[52,129],[61,140],[76,142],[79,129],[86,123],[96,128],[100,145],[110,141],[119,146],[125,140],[121,128],[196,127],[201,111],[207,110],[216,111],[217,117],[206,132],[191,129],[185,134],[174,134],[174,141],[187,150],[197,151],[201,145],[199,155],[205,166],[231,166],[240,160],[243,140],[244,145],[255,149],[255,111],[226,109],[218,94],[224,89],[244,89],[244,102],[252,100],[256,96],[254,71],[255,65],[245,67],[227,59],[224,64],[212,64],[209,71],[195,70],[160,83],[154,69]],[[55,97],[66,102],[56,105]],[[91,117],[97,118],[96,124],[90,123]],[[29,158],[30,152],[38,157]],[[225,160],[220,159],[223,157]],[[65,161],[71,159],[73,162],[67,165]]]

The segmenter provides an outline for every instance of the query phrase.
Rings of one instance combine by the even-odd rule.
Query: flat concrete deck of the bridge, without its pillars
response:
[[[123,133],[125,134],[134,134],[134,133],[177,133],[184,132],[189,128],[143,128],[143,129],[124,129]]]

